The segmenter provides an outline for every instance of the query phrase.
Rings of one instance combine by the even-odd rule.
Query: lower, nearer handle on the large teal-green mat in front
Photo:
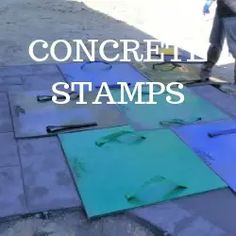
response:
[[[158,189],[158,184],[160,183],[164,183],[164,184],[171,184],[173,185],[173,188],[171,190],[168,190],[164,195],[160,196],[160,197],[171,197],[171,195],[176,194],[180,191],[186,190],[188,187],[183,185],[183,184],[177,184],[172,180],[168,180],[166,177],[164,176],[154,176],[153,178],[145,181],[134,193],[131,194],[125,194],[125,198],[128,202],[132,202],[132,201],[140,201],[142,199],[140,199],[139,194],[143,193],[144,191],[146,191],[146,189],[148,188],[148,186],[154,184],[157,186],[155,187],[156,189]]]

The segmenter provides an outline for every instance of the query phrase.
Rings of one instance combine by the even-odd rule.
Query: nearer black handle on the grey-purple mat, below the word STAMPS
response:
[[[54,134],[57,132],[73,130],[73,129],[83,129],[97,126],[96,122],[84,123],[84,124],[71,124],[71,125],[49,125],[46,127],[47,133]]]

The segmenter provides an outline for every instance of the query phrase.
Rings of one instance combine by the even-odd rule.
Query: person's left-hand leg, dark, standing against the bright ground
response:
[[[216,15],[211,30],[210,47],[207,52],[207,61],[203,63],[200,72],[200,78],[202,80],[209,79],[211,76],[212,68],[219,60],[224,44],[224,38],[225,31],[223,21]]]

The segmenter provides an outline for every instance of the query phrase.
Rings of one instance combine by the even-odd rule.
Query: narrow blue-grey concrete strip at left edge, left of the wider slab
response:
[[[20,159],[13,133],[0,132],[0,145],[0,217],[27,213]]]

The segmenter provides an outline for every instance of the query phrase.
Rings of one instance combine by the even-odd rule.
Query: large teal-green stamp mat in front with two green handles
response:
[[[226,187],[170,130],[123,126],[59,138],[88,217]]]

